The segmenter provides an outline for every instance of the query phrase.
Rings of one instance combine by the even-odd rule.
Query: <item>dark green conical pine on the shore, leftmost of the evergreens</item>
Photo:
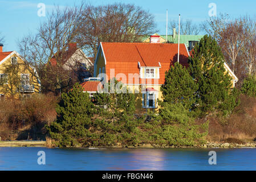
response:
[[[79,143],[78,140],[88,137],[93,108],[89,94],[84,93],[78,83],[70,92],[62,94],[56,108],[58,117],[47,126],[50,137],[56,140],[57,146],[75,146]]]

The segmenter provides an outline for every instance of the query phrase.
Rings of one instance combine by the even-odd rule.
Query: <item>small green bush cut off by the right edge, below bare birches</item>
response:
[[[256,97],[256,76],[255,75],[248,75],[245,78],[245,80],[243,80],[241,92],[247,96]]]

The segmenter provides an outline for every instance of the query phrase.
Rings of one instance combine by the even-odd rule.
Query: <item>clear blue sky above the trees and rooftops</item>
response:
[[[0,32],[5,36],[5,46],[3,51],[18,51],[17,42],[28,32],[35,32],[40,21],[45,17],[39,17],[38,3],[46,5],[46,11],[51,11],[54,5],[72,6],[74,3],[80,3],[82,0],[27,0],[27,1],[10,1],[0,0]],[[183,19],[192,19],[195,23],[200,23],[209,18],[208,11],[210,10],[209,3],[215,3],[217,14],[227,13],[232,17],[241,15],[255,15],[255,0],[231,1],[231,0],[196,0],[196,1],[173,1],[173,0],[88,0],[84,1],[91,5],[104,5],[114,2],[133,3],[143,7],[155,15],[157,29],[160,34],[165,34],[166,30],[166,9],[168,9],[168,19],[177,18],[181,14]],[[172,32],[168,32],[172,34]]]

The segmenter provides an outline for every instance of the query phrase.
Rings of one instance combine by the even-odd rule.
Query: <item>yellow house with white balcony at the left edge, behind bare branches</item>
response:
[[[0,44],[0,97],[31,97],[40,92],[35,68],[26,64],[16,51],[3,52]]]

